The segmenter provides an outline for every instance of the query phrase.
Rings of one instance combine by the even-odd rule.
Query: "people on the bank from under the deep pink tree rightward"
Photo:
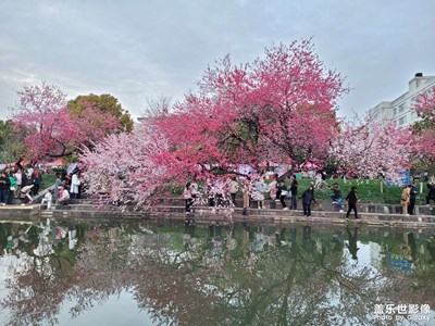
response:
[[[243,214],[248,213],[248,209],[253,202],[257,209],[265,209],[265,197],[272,201],[281,202],[284,211],[297,210],[298,201],[301,202],[301,209],[304,216],[311,216],[311,208],[313,203],[321,205],[314,196],[314,190],[322,184],[322,188],[330,189],[332,203],[337,205],[339,213],[345,213],[345,202],[347,203],[346,217],[349,218],[353,212],[355,218],[359,218],[357,203],[359,202],[357,187],[351,187],[350,191],[343,196],[341,189],[337,183],[331,186],[316,178],[315,183],[311,183],[307,189],[299,191],[298,178],[296,175],[291,175],[288,179],[285,177],[278,177],[274,175],[270,180],[266,181],[266,176],[262,175],[250,175],[244,178],[231,177],[217,177],[213,180],[208,179],[203,188],[199,188],[197,183],[188,183],[183,191],[183,197],[186,200],[186,213],[190,214],[195,200],[203,199],[208,201],[209,206],[213,208],[234,208],[236,206],[237,193],[241,192],[243,197]],[[425,197],[426,204],[430,201],[435,202],[435,183],[428,183],[428,193]],[[401,202],[403,214],[413,215],[415,210],[417,200],[417,181],[405,187],[401,196]],[[289,206],[287,205],[289,202]]]

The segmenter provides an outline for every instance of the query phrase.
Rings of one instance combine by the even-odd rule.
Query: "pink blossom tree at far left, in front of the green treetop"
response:
[[[66,95],[45,82],[17,93],[12,121],[30,160],[71,155],[79,145],[97,141],[120,126],[116,118],[90,105],[73,115],[66,108]]]

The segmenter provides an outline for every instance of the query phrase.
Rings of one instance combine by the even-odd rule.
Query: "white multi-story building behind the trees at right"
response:
[[[414,99],[428,92],[435,87],[435,76],[423,76],[422,73],[409,80],[408,91],[393,101],[384,101],[369,110],[369,115],[375,121],[386,123],[394,121],[398,127],[406,127],[418,121],[420,117],[411,111]]]

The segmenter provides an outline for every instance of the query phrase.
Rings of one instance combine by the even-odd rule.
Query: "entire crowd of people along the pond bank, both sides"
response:
[[[34,197],[40,191],[44,171],[36,165],[24,167],[21,160],[13,166],[5,167],[0,173],[0,205],[13,204],[15,199],[20,199],[22,204],[33,203]],[[75,167],[70,173],[60,171],[52,190],[48,190],[42,198],[42,204],[50,209],[52,203],[67,204],[71,199],[78,199],[82,190],[79,168]],[[243,197],[243,214],[248,213],[251,202],[254,202],[257,209],[263,210],[265,199],[269,197],[272,201],[281,202],[284,211],[295,211],[298,209],[298,201],[301,202],[304,216],[311,216],[313,203],[318,203],[314,190],[327,187],[331,192],[332,203],[337,205],[338,212],[344,213],[345,201],[347,202],[346,217],[353,211],[355,218],[358,218],[357,188],[351,190],[344,198],[341,189],[337,183],[327,186],[321,174],[316,174],[315,181],[311,183],[307,189],[299,191],[297,175],[289,178],[278,175],[249,175],[244,178],[236,176],[222,176],[207,179],[203,187],[198,183],[187,183],[183,198],[185,199],[185,211],[187,214],[192,212],[192,206],[198,200],[204,200],[209,206],[213,208],[234,208],[236,206],[237,195]],[[425,196],[426,204],[431,201],[435,203],[435,180],[427,181],[428,192]],[[406,186],[400,197],[401,212],[407,215],[414,215],[415,201],[418,196],[418,184]],[[289,202],[289,206],[287,205]]]

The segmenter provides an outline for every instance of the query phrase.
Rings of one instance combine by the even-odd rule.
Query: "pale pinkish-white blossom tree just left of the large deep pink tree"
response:
[[[164,164],[156,158],[165,149],[165,141],[150,124],[132,134],[111,135],[91,150],[85,148],[80,161],[88,193],[123,208],[149,204],[149,197],[164,184]]]

